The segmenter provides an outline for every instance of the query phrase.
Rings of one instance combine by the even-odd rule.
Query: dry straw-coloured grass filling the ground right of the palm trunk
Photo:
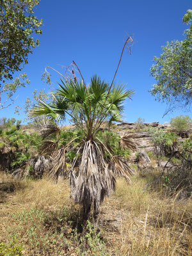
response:
[[[191,255],[191,200],[162,198],[143,188],[145,180],[138,177],[132,186],[118,180],[116,195],[106,203],[116,220],[113,230],[104,227],[106,243],[115,255]]]

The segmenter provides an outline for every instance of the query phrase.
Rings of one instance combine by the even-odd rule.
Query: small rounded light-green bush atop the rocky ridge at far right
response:
[[[170,124],[172,125],[173,129],[180,134],[180,132],[189,129],[189,122],[192,122],[189,116],[180,115],[172,118]]]

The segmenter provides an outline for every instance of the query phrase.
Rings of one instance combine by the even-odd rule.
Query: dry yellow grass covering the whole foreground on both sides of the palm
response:
[[[0,176],[3,182],[15,184],[10,177]],[[88,252],[80,245],[84,243],[77,232],[81,212],[69,196],[68,182],[16,183],[10,191],[4,189],[0,243],[22,246],[23,255],[191,255],[191,199],[164,198],[147,191],[142,177],[134,177],[131,186],[118,179],[116,193],[101,207],[97,229],[88,228],[89,246],[84,245]]]

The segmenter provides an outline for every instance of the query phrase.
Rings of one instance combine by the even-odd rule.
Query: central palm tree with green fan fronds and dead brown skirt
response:
[[[81,142],[73,147],[76,148],[76,157],[69,175],[71,195],[76,203],[83,205],[84,220],[86,220],[91,207],[93,214],[97,215],[104,197],[115,190],[114,172],[123,175],[127,182],[130,181],[129,175],[132,174],[132,170],[125,159],[115,156],[110,145],[100,140],[98,132],[101,125],[122,120],[124,111],[122,104],[125,99],[131,99],[134,92],[127,90],[123,84],[112,82],[109,86],[97,76],[93,76],[87,85],[84,79],[77,81],[76,77],[74,79],[63,77],[58,85],[58,90],[52,92],[54,102],[48,105],[39,100],[31,115],[46,115],[57,122],[70,116],[72,122],[82,131]],[[62,164],[69,145],[70,143],[65,148],[59,149],[60,153],[62,152],[60,155],[63,156]]]

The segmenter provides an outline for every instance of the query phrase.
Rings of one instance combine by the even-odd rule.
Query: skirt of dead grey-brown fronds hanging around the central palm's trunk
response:
[[[95,141],[86,141],[81,154],[79,173],[70,172],[71,195],[76,203],[83,205],[84,216],[97,214],[105,196],[115,190],[115,177],[104,160],[102,149]]]

